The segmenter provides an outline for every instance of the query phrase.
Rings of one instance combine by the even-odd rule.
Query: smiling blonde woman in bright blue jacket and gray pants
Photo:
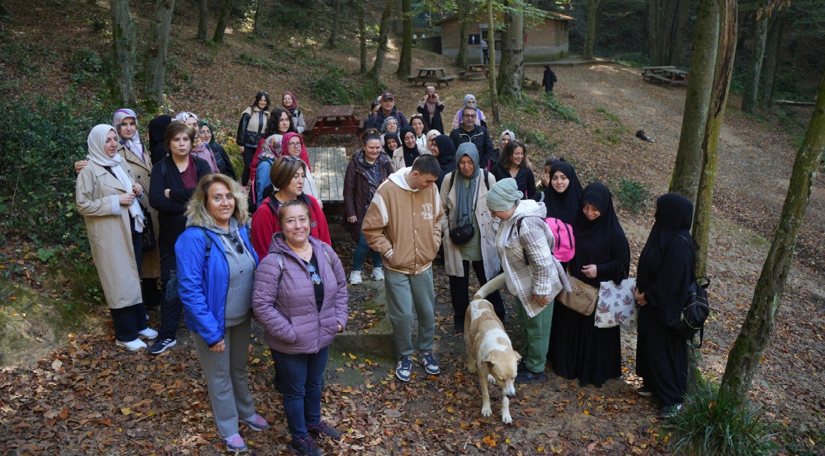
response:
[[[228,451],[244,451],[239,423],[263,431],[249,392],[247,353],[258,255],[240,186],[209,174],[189,200],[186,231],[175,244],[180,299],[209,387],[212,414]]]

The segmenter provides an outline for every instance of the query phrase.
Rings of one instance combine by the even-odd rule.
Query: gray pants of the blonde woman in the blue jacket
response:
[[[226,328],[223,353],[209,350],[206,341],[192,333],[198,360],[209,387],[209,402],[218,425],[218,433],[227,438],[238,433],[238,418],[250,418],[255,414],[252,394],[249,392],[247,356],[252,318]]]

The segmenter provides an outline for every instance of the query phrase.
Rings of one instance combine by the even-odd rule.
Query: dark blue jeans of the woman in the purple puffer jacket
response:
[[[272,350],[272,360],[281,378],[284,414],[293,439],[307,438],[307,426],[321,424],[321,377],[328,356],[329,347],[307,355]]]

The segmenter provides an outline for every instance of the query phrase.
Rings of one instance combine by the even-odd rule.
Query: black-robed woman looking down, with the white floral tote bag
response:
[[[613,209],[610,190],[601,182],[584,189],[579,212],[573,222],[576,256],[568,272],[588,285],[620,283],[630,270],[630,245]],[[561,334],[553,370],[563,377],[579,379],[584,386],[601,387],[622,375],[620,328],[596,328],[595,313],[571,315],[569,332]]]

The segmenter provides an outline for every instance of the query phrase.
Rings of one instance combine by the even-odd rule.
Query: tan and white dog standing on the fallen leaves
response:
[[[464,342],[467,344],[467,370],[478,372],[481,384],[481,414],[493,414],[488,391],[488,384],[492,381],[501,386],[501,421],[509,424],[513,422],[509,398],[516,395],[514,382],[521,355],[513,350],[493,305],[484,299],[503,285],[504,274],[500,274],[475,294],[464,317]]]

